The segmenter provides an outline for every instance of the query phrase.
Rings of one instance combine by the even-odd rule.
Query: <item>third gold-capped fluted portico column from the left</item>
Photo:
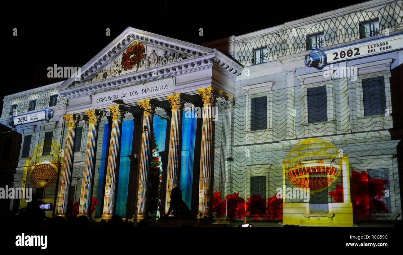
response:
[[[108,166],[106,168],[104,212],[102,219],[110,219],[114,214],[120,136],[122,133],[122,121],[125,117],[125,111],[127,111],[126,107],[122,105],[110,106],[108,109],[112,117],[112,132],[110,134]]]

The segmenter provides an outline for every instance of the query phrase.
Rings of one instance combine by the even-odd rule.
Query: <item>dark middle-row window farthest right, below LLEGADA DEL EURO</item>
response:
[[[383,76],[362,80],[364,116],[384,114],[386,110],[385,80]]]

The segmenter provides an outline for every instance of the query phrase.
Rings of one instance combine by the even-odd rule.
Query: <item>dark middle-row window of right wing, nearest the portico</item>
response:
[[[267,128],[267,96],[251,99],[251,130]]]

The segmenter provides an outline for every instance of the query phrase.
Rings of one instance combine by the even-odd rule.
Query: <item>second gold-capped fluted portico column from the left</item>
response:
[[[89,129],[87,138],[87,150],[85,152],[83,182],[81,182],[79,216],[85,215],[89,217],[91,211],[91,192],[93,185],[94,164],[98,138],[98,125],[104,113],[95,109],[91,111],[86,111],[85,115],[88,117]]]

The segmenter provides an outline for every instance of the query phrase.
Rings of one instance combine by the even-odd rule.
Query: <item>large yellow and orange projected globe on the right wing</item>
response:
[[[310,194],[322,192],[340,175],[339,151],[330,142],[317,138],[302,140],[285,161],[285,176],[295,188],[309,188]]]

